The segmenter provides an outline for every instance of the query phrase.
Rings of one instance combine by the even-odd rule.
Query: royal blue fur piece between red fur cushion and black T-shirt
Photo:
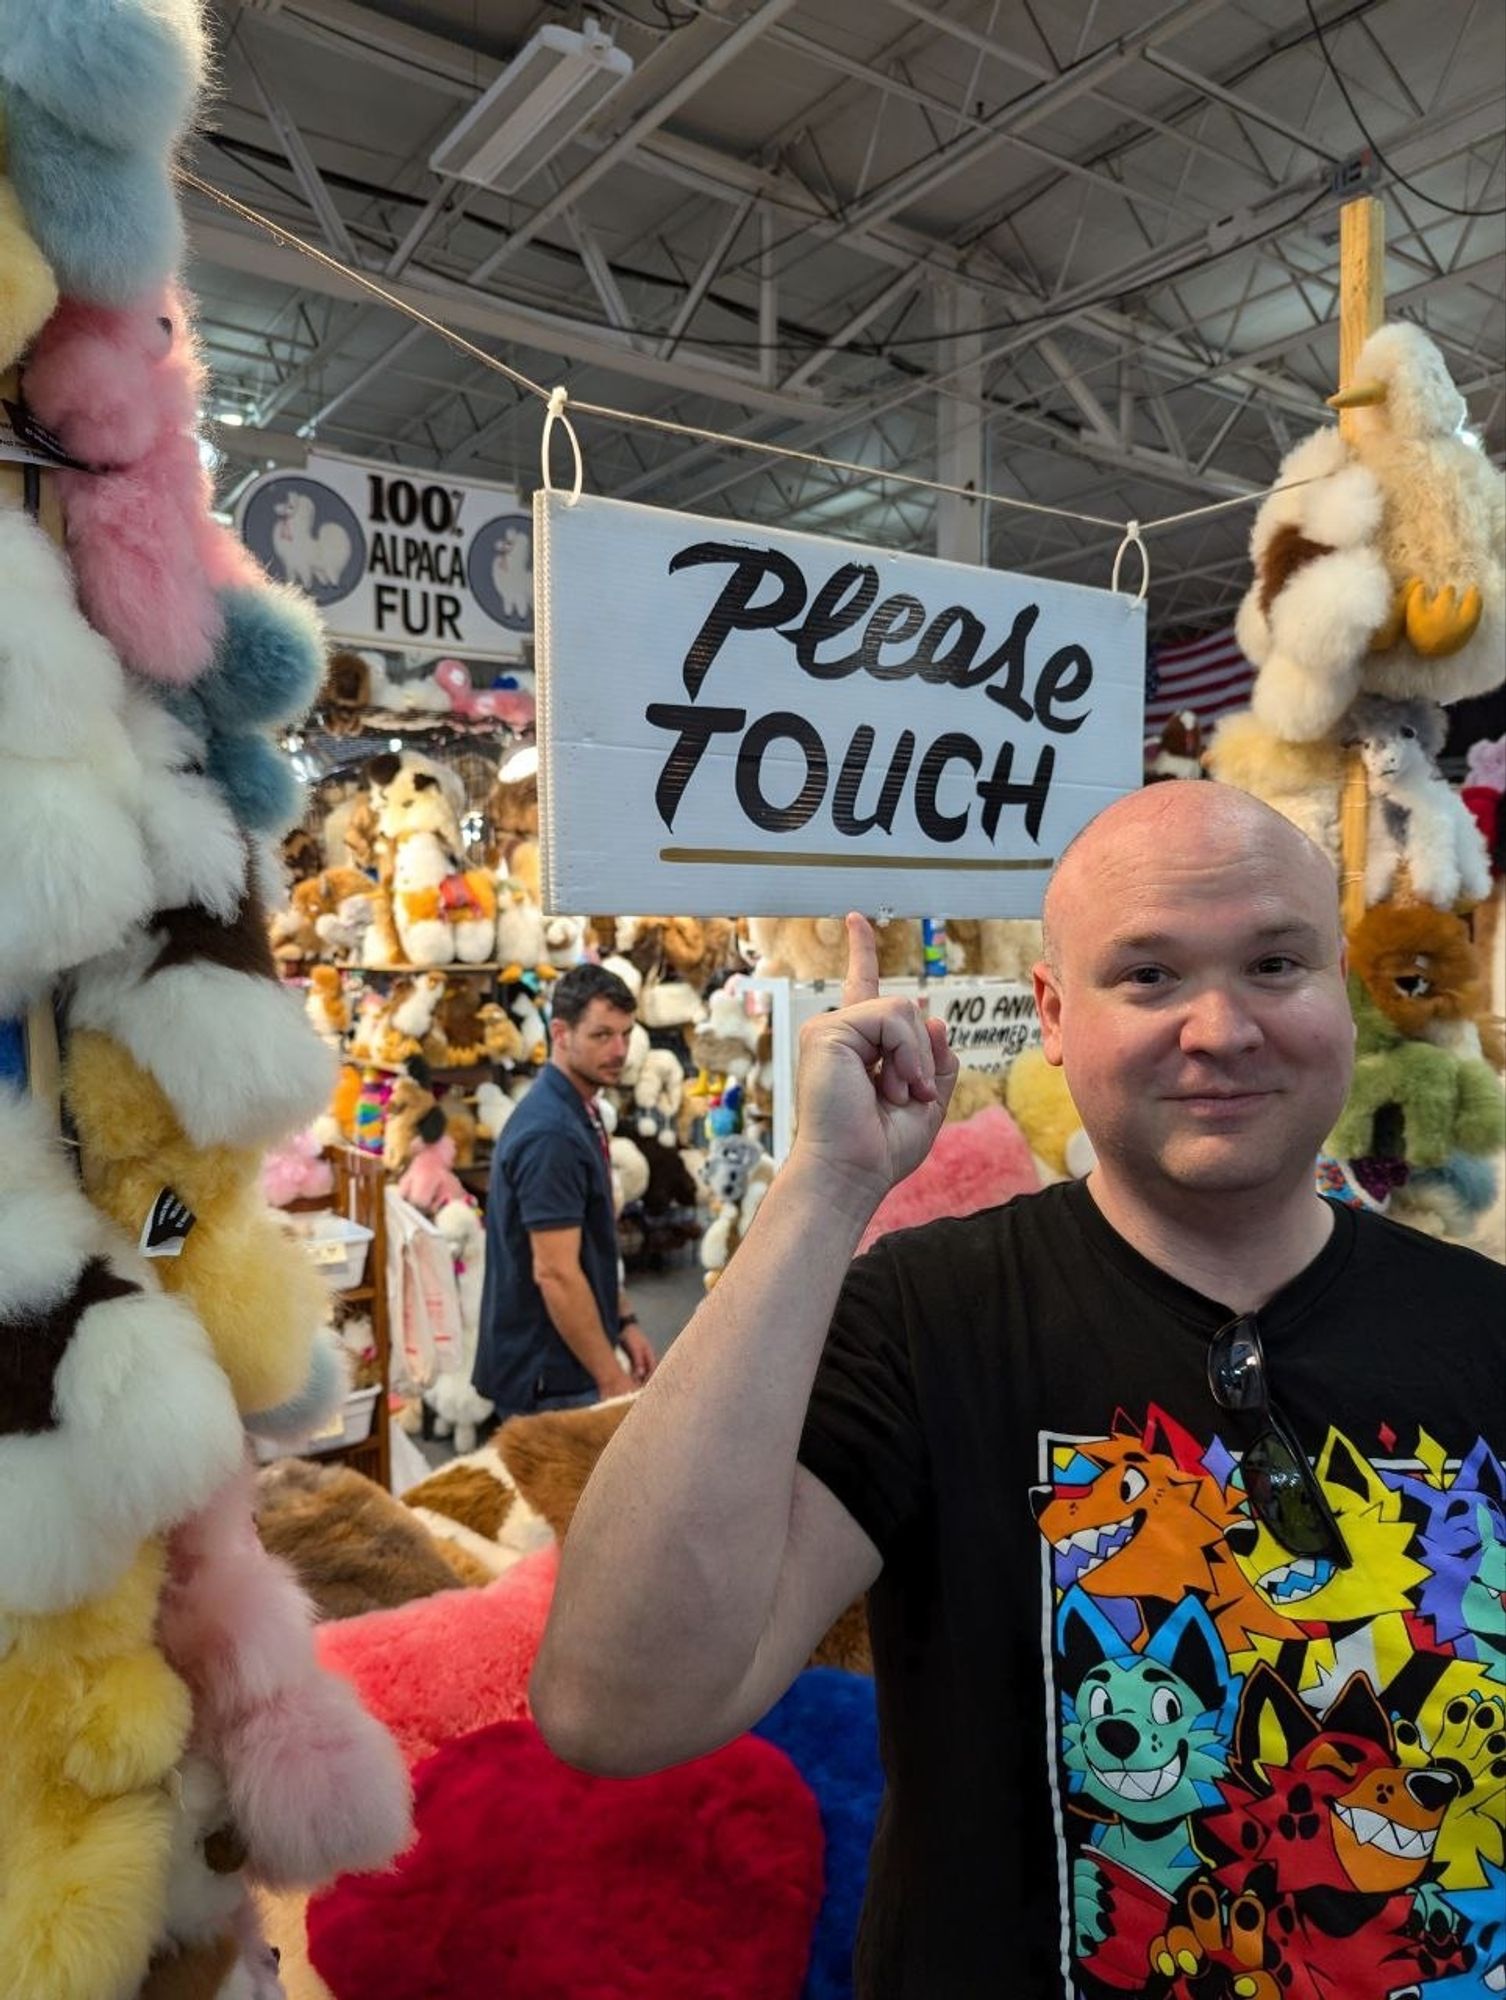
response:
[[[868,1848],[884,1792],[874,1684],[868,1674],[840,1666],[810,1666],[754,1726],[754,1736],[790,1758],[816,1794],[826,1834],[826,1896],[802,2000],[850,2000]]]

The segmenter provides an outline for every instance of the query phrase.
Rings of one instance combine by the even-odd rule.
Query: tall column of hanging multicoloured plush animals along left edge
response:
[[[344,1396],[262,1194],[334,1078],[266,934],[324,638],[200,464],[172,170],[206,66],[200,0],[0,0],[0,368],[90,468],[44,474],[66,556],[0,508],[0,1018],[58,1024],[72,1116],[64,1148],[0,1092],[6,2000],[272,2000],[252,1884],[408,1838],[250,1514],[248,1428]]]

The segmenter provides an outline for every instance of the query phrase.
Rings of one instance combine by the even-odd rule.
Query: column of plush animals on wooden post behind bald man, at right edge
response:
[[[1218,724],[1206,764],[1340,864],[1344,770],[1360,760],[1358,1062],[1330,1154],[1356,1198],[1468,1238],[1504,1140],[1470,936],[1490,928],[1492,866],[1438,756],[1442,704],[1506,678],[1506,482],[1416,326],[1374,332],[1330,400],[1352,434],[1298,444],[1256,516],[1236,624],[1258,668],[1252,710]]]

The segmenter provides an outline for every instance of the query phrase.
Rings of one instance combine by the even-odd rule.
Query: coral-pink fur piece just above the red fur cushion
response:
[[[322,1624],[320,1660],[354,1680],[416,1764],[454,1736],[528,1716],[528,1676],[558,1568],[560,1552],[550,1544],[484,1590],[442,1590],[390,1612]]]

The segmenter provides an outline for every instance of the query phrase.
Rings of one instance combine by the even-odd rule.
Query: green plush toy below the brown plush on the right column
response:
[[[1408,1166],[1442,1166],[1454,1152],[1498,1152],[1506,1096],[1490,1064],[1434,1042],[1410,1042],[1356,972],[1348,992],[1358,1028],[1354,1082],[1326,1150],[1340,1160],[1376,1154],[1376,1116],[1394,1108],[1402,1122],[1396,1154]]]

